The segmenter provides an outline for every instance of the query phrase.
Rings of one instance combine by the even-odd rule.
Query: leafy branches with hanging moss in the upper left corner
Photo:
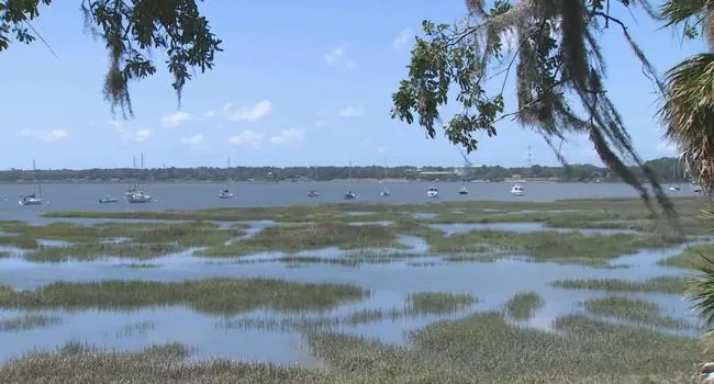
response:
[[[11,41],[44,42],[32,22],[41,5],[51,3],[0,0],[0,52],[8,49]],[[79,9],[87,30],[107,46],[110,59],[103,94],[112,112],[119,109],[124,117],[133,116],[129,83],[156,72],[149,50],[166,53],[179,103],[191,70],[211,69],[215,53],[222,50],[221,39],[211,32],[196,0],[82,0]]]

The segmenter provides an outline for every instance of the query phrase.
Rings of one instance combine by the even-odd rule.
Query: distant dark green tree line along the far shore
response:
[[[676,158],[660,158],[645,163],[661,182],[687,181]],[[643,177],[639,168],[632,171]],[[404,180],[483,180],[502,181],[513,176],[533,179],[550,179],[562,182],[618,182],[620,179],[607,168],[593,165],[570,165],[568,167],[533,166],[531,168],[505,168],[480,166],[467,169],[454,167],[232,167],[227,168],[155,168],[140,171],[131,168],[116,169],[55,169],[0,171],[0,182],[32,182],[36,177],[42,182],[131,182],[133,180],[161,182],[191,181],[302,181],[339,179],[404,179]]]

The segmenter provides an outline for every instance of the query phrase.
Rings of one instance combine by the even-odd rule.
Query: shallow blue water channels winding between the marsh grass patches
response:
[[[82,224],[105,223],[107,219],[81,221]],[[123,221],[126,222],[126,221]],[[143,223],[149,221],[141,221]],[[153,221],[159,222],[159,221]],[[228,225],[223,223],[222,225]],[[274,222],[252,222],[246,236],[276,225]],[[373,223],[372,223],[373,224]],[[543,230],[542,224],[449,224],[435,225],[434,228],[447,235],[469,230]],[[550,228],[547,228],[550,230]],[[612,229],[568,229],[560,231],[582,231],[585,234],[627,233]],[[428,253],[428,245],[415,236],[400,236],[399,241],[406,246],[402,250],[388,251],[402,253],[391,262],[341,266],[335,263],[304,263],[302,268],[291,268],[281,262],[271,262],[283,256],[280,252],[253,255],[244,258],[200,258],[192,250],[150,260],[153,268],[136,268],[127,259],[110,258],[89,262],[69,261],[63,263],[33,263],[20,257],[0,259],[0,282],[14,289],[36,289],[56,281],[91,282],[97,280],[150,280],[183,281],[204,278],[254,278],[270,276],[299,282],[352,283],[371,290],[370,297],[361,303],[352,303],[333,309],[327,315],[276,314],[256,310],[232,317],[197,314],[183,307],[144,308],[132,312],[47,310],[58,315],[63,321],[45,328],[16,332],[0,332],[0,359],[16,357],[35,349],[52,349],[69,340],[86,341],[100,347],[138,350],[150,343],[183,342],[197,347],[196,358],[225,357],[243,360],[274,361],[277,363],[311,363],[312,359],[302,350],[302,334],[291,329],[266,329],[265,327],[226,327],[244,320],[255,324],[257,319],[286,319],[304,316],[330,316],[338,318],[365,309],[404,310],[405,298],[413,292],[468,293],[478,297],[473,307],[449,315],[387,316],[371,323],[336,323],[338,330],[390,343],[403,343],[404,332],[423,327],[436,319],[458,318],[475,310],[502,309],[516,293],[537,292],[545,305],[535,312],[525,324],[550,329],[553,320],[562,315],[582,313],[581,303],[588,298],[604,297],[606,292],[587,290],[562,290],[548,285],[560,279],[623,279],[640,281],[660,275],[683,275],[685,270],[663,268],[657,261],[681,252],[685,246],[669,249],[643,250],[623,256],[610,266],[627,264],[627,269],[595,269],[585,266],[561,266],[550,262],[527,262],[509,258],[491,262],[451,263],[438,256]],[[63,246],[62,242],[44,242],[45,246]],[[2,249],[0,249],[2,250]],[[12,250],[12,249],[10,249]],[[360,251],[366,252],[366,251]],[[19,253],[13,253],[18,256]],[[358,257],[336,248],[302,251],[297,257],[337,259]],[[239,262],[236,261],[256,261]],[[259,261],[259,262],[257,262]],[[428,263],[428,268],[420,267]],[[665,312],[676,318],[691,320],[688,303],[679,295],[658,293],[618,293],[634,298],[645,298],[659,304]],[[18,310],[0,309],[0,319],[21,314]],[[693,335],[696,330],[679,330]]]

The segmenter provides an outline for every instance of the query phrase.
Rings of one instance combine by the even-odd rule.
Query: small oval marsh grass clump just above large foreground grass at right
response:
[[[607,296],[590,298],[583,304],[585,309],[593,315],[610,316],[654,327],[693,328],[688,321],[663,315],[659,305],[644,300]]]

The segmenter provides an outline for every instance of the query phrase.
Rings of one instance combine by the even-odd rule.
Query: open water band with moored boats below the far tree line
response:
[[[122,200],[126,184],[46,184],[43,195],[47,204],[21,206],[16,196],[32,189],[29,184],[3,184],[0,187],[0,218],[30,221],[37,213],[49,211],[163,211],[198,210],[235,206],[281,206],[291,204],[319,203],[426,203],[436,201],[529,201],[549,202],[559,199],[601,199],[637,197],[634,189],[618,183],[551,183],[526,182],[525,196],[514,197],[510,194],[510,183],[472,183],[468,195],[458,194],[461,183],[439,182],[440,194],[437,199],[426,197],[427,182],[390,183],[391,196],[379,194],[381,185],[368,181],[335,181],[305,183],[236,183],[232,190],[235,199],[219,199],[217,193],[223,183],[171,183],[148,184],[147,189],[156,202],[148,204],[130,204]],[[320,197],[309,197],[308,191],[321,190]],[[345,190],[353,190],[359,199],[343,200]],[[670,192],[677,196],[693,196],[689,185],[682,185],[681,192]],[[100,204],[99,197],[111,194],[119,197],[115,204]]]

